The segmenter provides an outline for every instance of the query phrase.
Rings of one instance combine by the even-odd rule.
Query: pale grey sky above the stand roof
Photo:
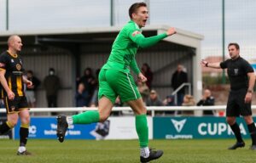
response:
[[[172,25],[199,33],[202,55],[221,55],[222,1],[148,0],[151,25]],[[5,2],[0,0],[0,31],[5,30]],[[135,0],[115,0],[116,25],[128,20],[128,8]],[[241,52],[256,53],[256,1],[225,0],[226,44],[238,42]],[[60,29],[109,26],[110,0],[9,0],[9,29]],[[250,58],[252,54],[250,55]]]

